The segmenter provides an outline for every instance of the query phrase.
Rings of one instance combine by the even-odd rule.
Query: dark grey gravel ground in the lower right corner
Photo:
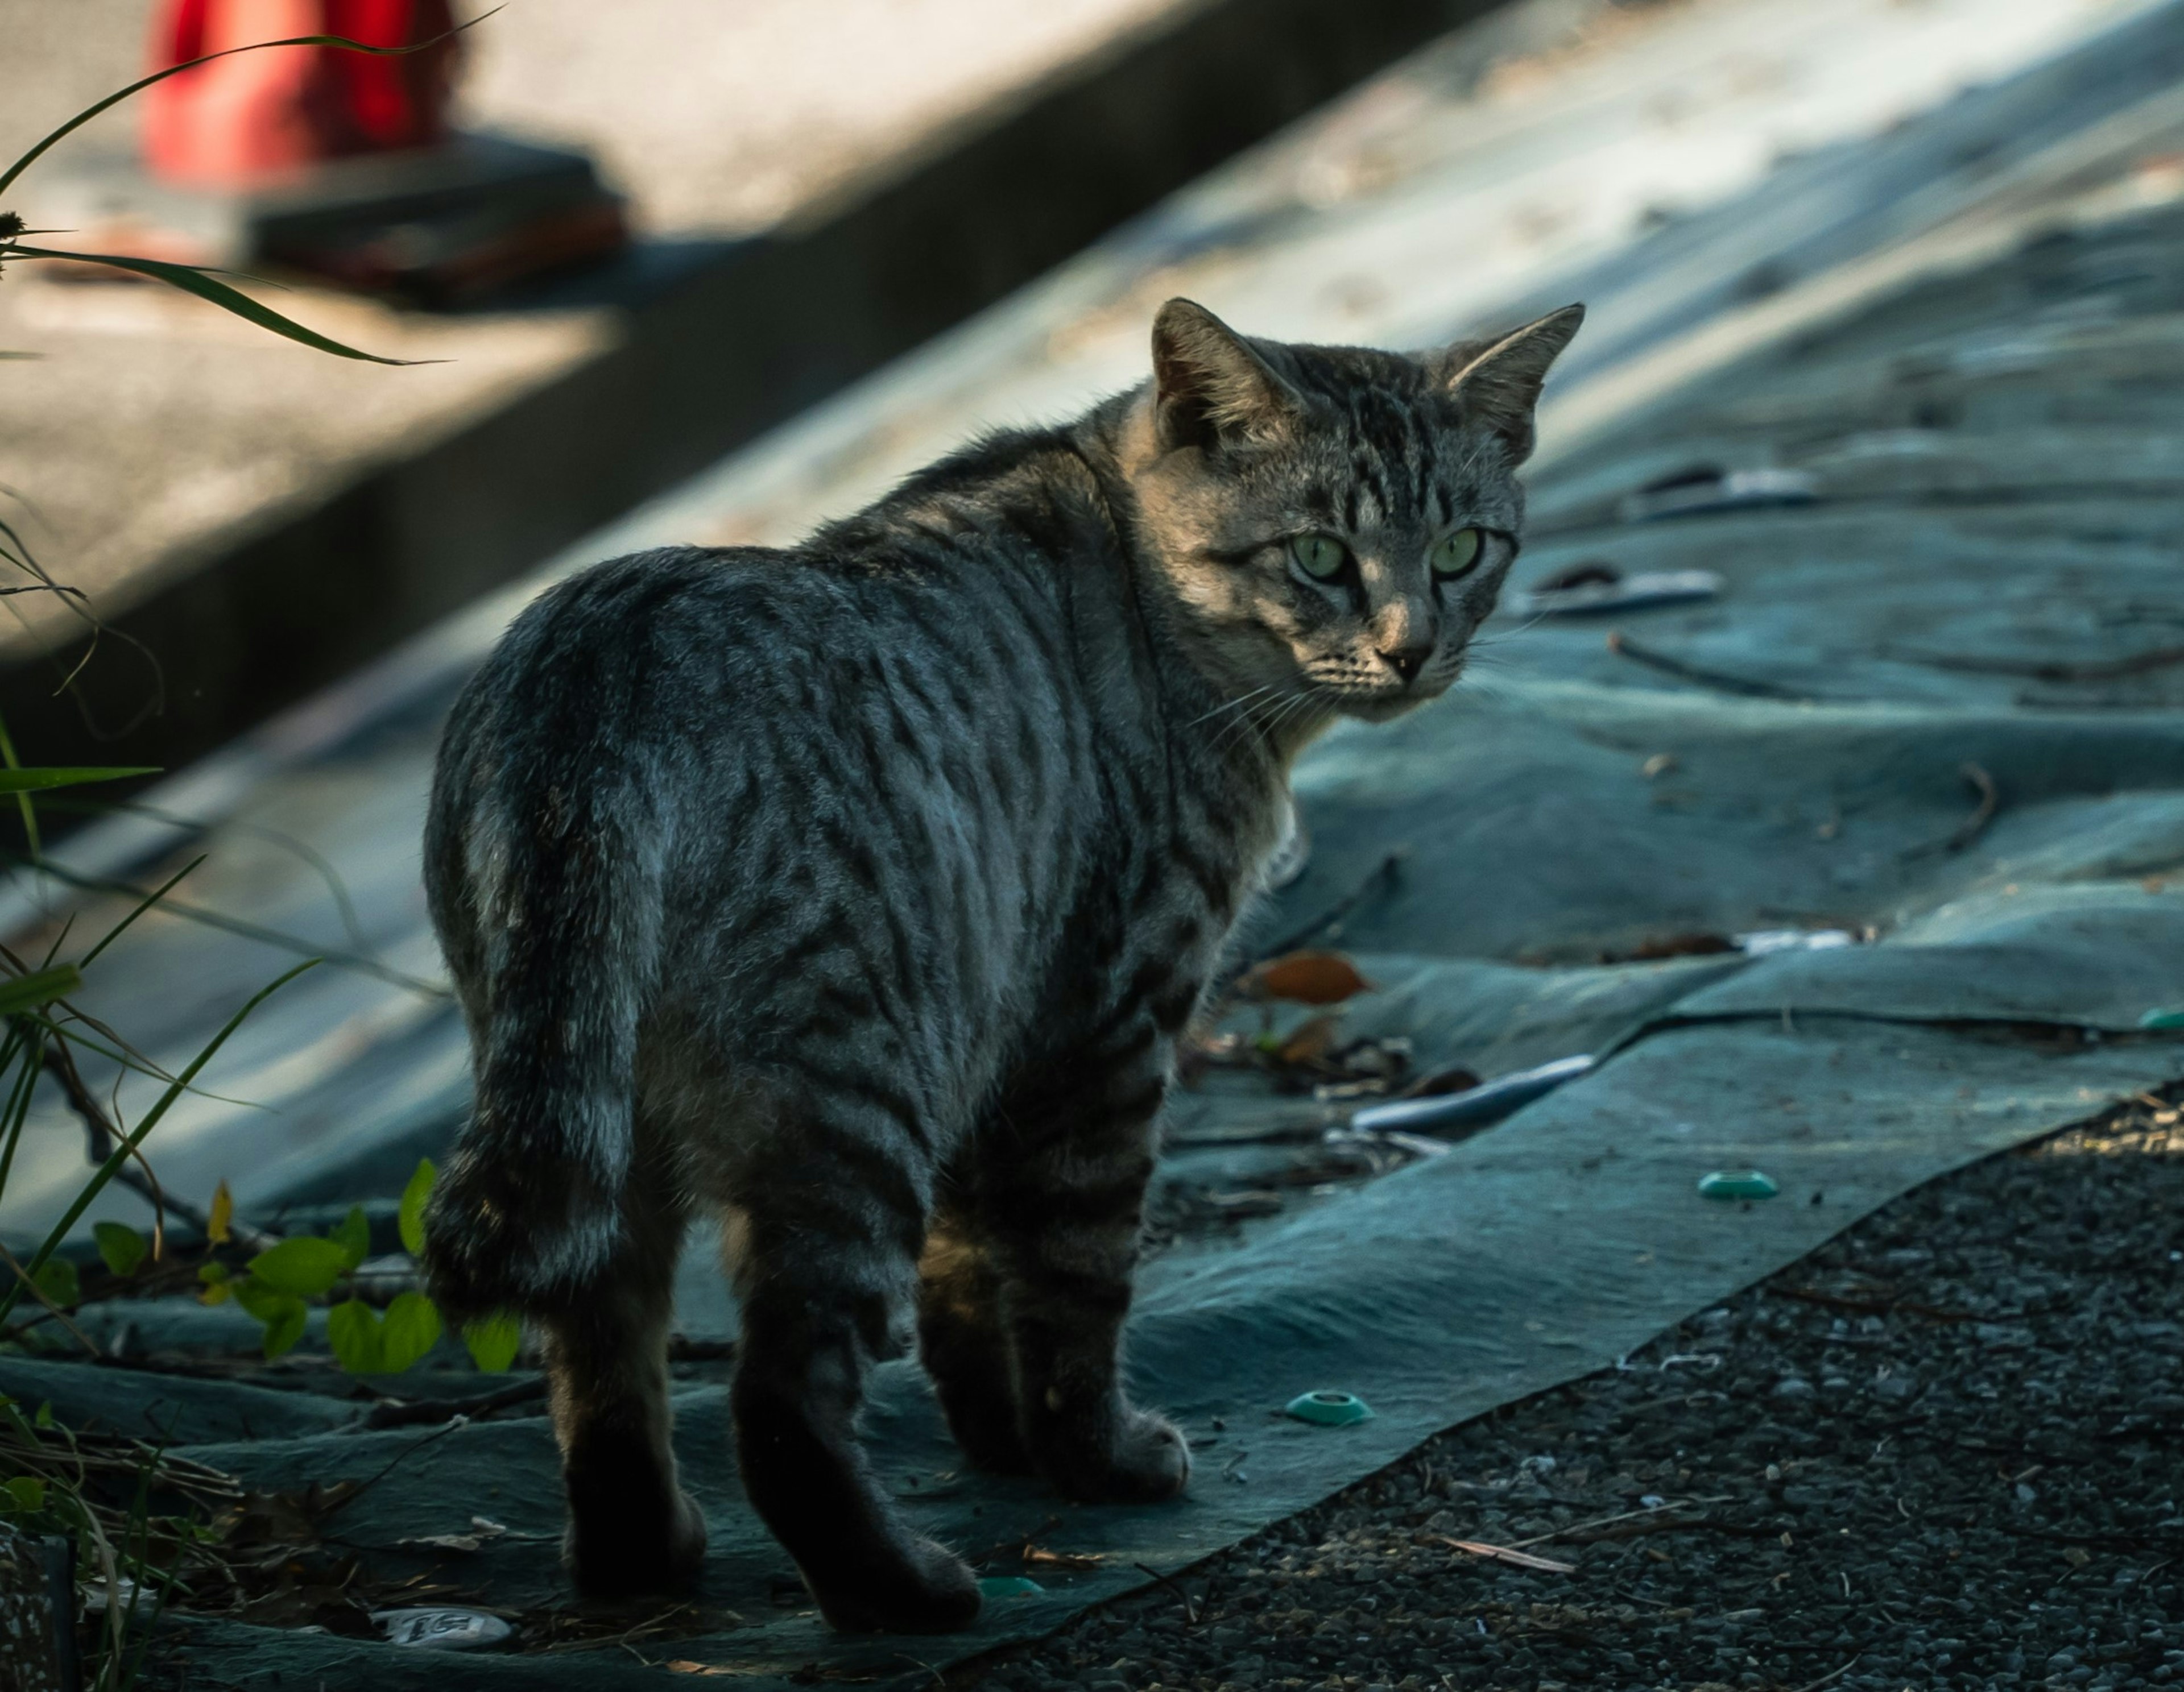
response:
[[[2180,1120],[2149,1098],[1935,1181],[1616,1369],[950,1681],[2184,1685]]]

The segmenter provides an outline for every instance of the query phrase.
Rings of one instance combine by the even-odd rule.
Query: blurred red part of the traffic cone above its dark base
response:
[[[402,57],[266,48],[168,76],[146,90],[144,159],[168,181],[236,188],[321,159],[432,146],[448,135],[452,28],[448,0],[164,0],[155,68],[290,35],[432,46]]]

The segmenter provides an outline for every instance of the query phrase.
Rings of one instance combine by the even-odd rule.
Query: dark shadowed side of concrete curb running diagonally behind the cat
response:
[[[1061,262],[1498,0],[1203,0],[895,159],[797,225],[703,249],[618,345],[317,509],[100,607],[79,699],[0,670],[37,762],[175,768]]]

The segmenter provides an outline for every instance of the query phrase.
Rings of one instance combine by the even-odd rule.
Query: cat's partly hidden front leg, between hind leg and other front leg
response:
[[[1033,1474],[1016,1406],[1016,1356],[1000,1314],[1000,1271],[968,1210],[943,1203],[917,1262],[917,1351],[948,1432],[992,1474]]]

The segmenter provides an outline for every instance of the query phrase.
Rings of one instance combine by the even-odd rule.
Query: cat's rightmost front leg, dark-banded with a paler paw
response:
[[[1190,1480],[1182,1432],[1120,1380],[1166,1079],[1166,1039],[1140,1013],[1105,1050],[1026,1076],[1002,1103],[1011,1131],[981,1148],[1024,1443],[1083,1502],[1155,1502]]]

